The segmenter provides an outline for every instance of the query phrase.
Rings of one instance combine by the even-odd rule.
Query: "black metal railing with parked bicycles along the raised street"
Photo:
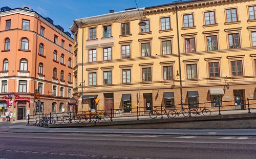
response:
[[[234,103],[240,103],[235,105]],[[233,104],[230,104],[233,103]],[[217,106],[212,106],[217,105]],[[240,113],[251,113],[256,109],[256,99],[246,99],[240,101],[218,101],[204,103],[178,104],[172,106],[152,106],[133,107],[129,109],[105,109],[88,111],[70,111],[59,113],[48,113],[43,115],[28,115],[28,124],[48,127],[49,124],[71,124],[84,122],[112,122],[139,119],[176,118],[176,117],[196,117],[230,114],[241,110]],[[123,110],[128,110],[123,112]],[[232,111],[232,112],[231,112]]]

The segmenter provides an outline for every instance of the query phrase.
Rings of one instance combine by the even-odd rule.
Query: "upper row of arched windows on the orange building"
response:
[[[21,46],[20,47],[21,50],[29,50],[28,39],[23,38],[21,40],[20,46]],[[9,38],[7,38],[5,40],[5,51],[8,51],[8,50],[10,50],[10,39]],[[44,56],[44,44],[42,44],[42,43],[39,44],[38,54]],[[54,50],[54,52],[53,52],[53,60],[57,61],[57,51],[56,50]],[[64,64],[64,54],[60,55],[60,63]],[[71,67],[71,58],[68,59],[68,66]]]

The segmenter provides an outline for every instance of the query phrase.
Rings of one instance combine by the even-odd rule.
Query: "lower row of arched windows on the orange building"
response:
[[[3,71],[8,71],[8,59],[4,60],[3,63]],[[28,61],[26,59],[21,59],[20,60],[20,65],[19,65],[19,71],[28,71]],[[39,63],[38,64],[38,74],[44,74],[44,64]],[[53,78],[57,78],[57,69],[54,67],[53,69]],[[64,80],[64,71],[60,71],[60,80]],[[68,82],[71,82],[71,73],[68,74]]]

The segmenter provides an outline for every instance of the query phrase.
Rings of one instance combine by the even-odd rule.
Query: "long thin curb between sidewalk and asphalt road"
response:
[[[145,133],[145,132],[81,132],[81,131],[8,131],[27,133],[84,133],[84,134],[135,134],[135,135],[173,135],[173,136],[204,136],[204,137],[256,137],[256,134],[197,134],[197,133]]]

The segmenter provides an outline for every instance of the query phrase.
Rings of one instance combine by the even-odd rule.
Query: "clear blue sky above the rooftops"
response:
[[[134,0],[0,0],[1,6],[20,8],[30,6],[44,17],[50,17],[54,25],[60,25],[65,31],[73,24],[74,19],[109,13],[109,10],[123,11],[136,7]],[[138,7],[150,7],[172,3],[170,0],[136,0]],[[184,1],[184,0],[183,0]]]

